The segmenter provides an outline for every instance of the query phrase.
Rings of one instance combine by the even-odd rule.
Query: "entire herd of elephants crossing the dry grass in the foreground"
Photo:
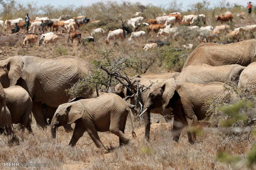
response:
[[[130,93],[122,85],[116,86],[116,94],[100,93],[99,97],[89,99],[93,92],[85,89],[77,94],[80,97],[69,101],[71,96],[65,90],[88,74],[88,68],[88,62],[72,56],[14,56],[0,61],[1,132],[5,130],[17,139],[12,123],[21,123],[22,129],[33,133],[33,113],[39,126],[50,124],[53,138],[56,127],[70,130],[75,122],[71,146],[76,145],[84,131],[106,152],[97,131],[111,131],[119,137],[120,145],[130,143],[124,129],[127,116],[131,118],[132,114],[128,103],[134,105],[135,99],[122,99]],[[233,81],[256,93],[256,40],[227,45],[205,43],[194,49],[181,73],[146,73],[132,77],[131,82],[135,81],[151,85],[142,93],[146,138],[149,139],[150,113],[158,113],[166,121],[174,117],[172,138],[178,141],[184,128],[206,117],[206,101],[235,97],[225,92],[225,82]],[[135,135],[133,125],[132,133]],[[187,130],[187,135],[190,143],[196,140],[195,133]]]

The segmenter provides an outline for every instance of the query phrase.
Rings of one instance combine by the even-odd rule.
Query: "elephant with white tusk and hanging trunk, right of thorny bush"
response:
[[[174,78],[162,83],[155,83],[148,92],[143,111],[146,139],[149,139],[151,109],[172,108],[174,116],[172,138],[178,141],[184,127],[196,124],[198,120],[206,118],[209,108],[206,101],[211,98],[222,100],[228,96],[228,93],[224,91],[223,84],[220,82],[176,83]],[[194,132],[187,131],[187,136],[190,143],[196,140]]]

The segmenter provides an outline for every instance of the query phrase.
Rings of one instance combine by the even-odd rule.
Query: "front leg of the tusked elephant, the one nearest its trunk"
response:
[[[171,137],[173,140],[175,140],[175,142],[179,141],[181,131],[185,126],[187,126],[187,121],[185,121],[185,118],[180,115],[174,115],[173,132]]]

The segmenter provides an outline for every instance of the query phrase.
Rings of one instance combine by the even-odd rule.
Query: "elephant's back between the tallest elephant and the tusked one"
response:
[[[192,64],[185,67],[175,80],[187,83],[209,83],[233,81],[238,83],[241,72],[246,67],[239,64],[211,66],[208,64]]]

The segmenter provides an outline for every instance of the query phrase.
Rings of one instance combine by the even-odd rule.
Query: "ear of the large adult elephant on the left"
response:
[[[14,56],[7,59],[8,78],[10,80],[9,87],[16,85],[17,80],[21,77],[23,67],[24,62],[21,60],[21,57]]]

